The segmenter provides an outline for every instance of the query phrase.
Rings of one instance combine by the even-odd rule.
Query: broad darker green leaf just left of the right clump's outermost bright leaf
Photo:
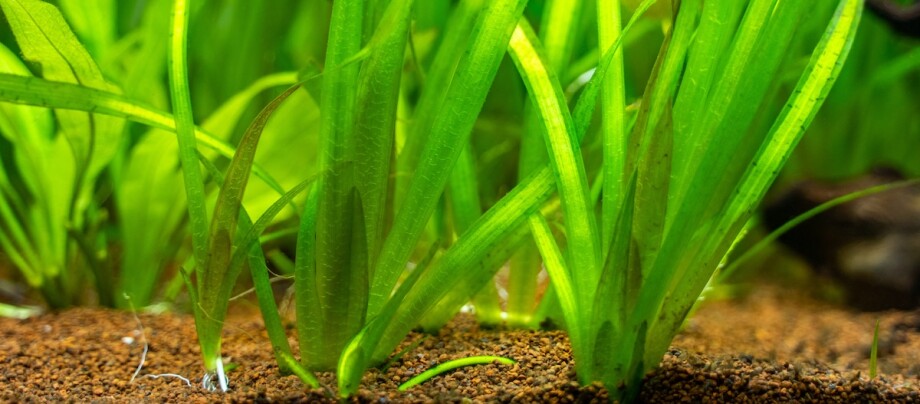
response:
[[[724,7],[725,5],[720,4],[720,6]],[[739,77],[730,80],[729,84],[726,84],[731,87],[731,90],[714,92],[713,97],[727,98],[717,103],[722,108],[727,109],[707,110],[708,114],[717,115],[716,118],[712,119],[721,122],[718,124],[716,132],[706,136],[700,135],[703,136],[704,144],[707,144],[708,147],[693,150],[692,153],[695,154],[691,154],[690,150],[682,149],[678,144],[679,139],[685,135],[675,137],[675,142],[677,142],[675,143],[674,151],[676,167],[674,168],[675,175],[672,180],[674,187],[671,195],[669,195],[665,240],[661,246],[662,259],[655,261],[653,268],[648,272],[648,286],[646,289],[658,290],[655,293],[664,295],[667,290],[679,287],[677,285],[679,285],[680,275],[684,274],[685,271],[676,270],[675,268],[691,265],[692,260],[683,254],[692,253],[697,251],[698,248],[697,246],[689,247],[688,243],[705,242],[705,237],[696,236],[697,234],[708,234],[699,233],[700,227],[713,220],[713,217],[718,217],[718,209],[723,206],[727,198],[731,197],[733,190],[729,185],[734,186],[734,184],[737,184],[742,175],[742,172],[739,172],[736,167],[743,167],[743,163],[748,161],[746,156],[750,155],[748,150],[758,145],[762,138],[759,133],[751,133],[749,136],[740,136],[739,133],[748,133],[750,130],[750,122],[756,113],[751,105],[758,104],[758,102],[752,102],[752,100],[762,100],[767,96],[766,90],[769,86],[769,81],[763,80],[763,77],[769,77],[775,73],[775,69],[782,60],[784,49],[787,47],[786,44],[791,41],[791,30],[804,10],[799,7],[803,6],[802,3],[793,3],[778,9],[778,12],[767,23],[766,28],[769,32],[776,33],[775,35],[752,37],[750,34],[736,34],[739,36],[735,40],[736,46],[732,48],[731,52],[725,54],[723,58],[728,61],[737,61],[739,57],[744,59],[745,57],[756,56],[757,60],[744,66],[735,65],[734,69],[741,69],[743,72],[734,73],[733,76]],[[748,9],[747,12],[755,10]],[[754,16],[750,20],[759,21],[760,18]],[[721,25],[718,21],[708,19],[704,19],[702,22]],[[754,25],[742,24],[737,30],[760,29],[758,27],[761,27],[759,23]],[[727,32],[732,32],[732,29]],[[739,41],[755,41],[758,38],[760,43],[757,45],[738,45]],[[759,52],[756,52],[756,55],[751,55],[752,48],[757,48]],[[744,57],[735,56],[735,52],[741,52],[745,55]],[[702,74],[705,69],[699,70],[699,72]],[[688,77],[686,74],[682,77],[683,81],[693,81],[694,79],[694,77]],[[704,80],[704,78],[700,78],[700,80]],[[723,85],[719,88],[724,89],[725,86]],[[692,91],[693,87],[688,87],[688,90]],[[726,91],[730,94],[725,94]],[[732,98],[731,93],[735,92],[738,95]],[[680,97],[681,94],[678,94],[678,98]],[[699,117],[684,115],[680,111],[675,111],[675,114],[677,114],[675,116],[678,119],[700,119]],[[722,116],[730,116],[731,118],[722,119]],[[682,121],[677,121],[677,127],[683,126],[686,126],[686,124]],[[709,140],[708,137],[718,138],[719,141]],[[689,171],[686,167],[681,168],[682,159],[696,160],[693,164],[705,169],[699,169],[694,172]],[[721,172],[723,175],[714,179],[710,173],[715,171]],[[683,187],[688,183],[691,185],[690,188],[686,189],[692,188],[694,193],[682,194],[686,190]],[[647,271],[647,268],[644,268],[643,271]]]

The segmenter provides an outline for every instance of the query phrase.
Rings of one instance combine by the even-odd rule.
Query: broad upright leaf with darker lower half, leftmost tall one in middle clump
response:
[[[337,66],[361,49],[363,2],[344,0],[332,6],[326,66]],[[355,195],[357,161],[355,101],[358,92],[358,65],[328,71],[323,77],[320,117],[321,193],[316,216],[316,255],[303,257],[316,261],[316,288],[322,312],[322,330],[308,338],[322,349],[319,357],[303,357],[315,370],[334,369],[339,353],[364,322],[367,299],[366,252],[355,245],[355,237],[365,237],[363,207]],[[301,257],[297,257],[301,260]],[[312,293],[312,292],[307,292]]]

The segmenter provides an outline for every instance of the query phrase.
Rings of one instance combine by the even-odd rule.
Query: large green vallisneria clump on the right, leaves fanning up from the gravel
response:
[[[588,225],[567,223],[563,256],[545,220],[531,223],[562,302],[580,380],[602,380],[608,388],[625,382],[626,397],[636,394],[639,379],[657,364],[814,117],[839,73],[861,10],[859,1],[839,2],[774,118],[756,105],[776,91],[769,78],[809,10],[784,1],[754,0],[746,7],[681,2],[637,123],[623,143],[628,146],[617,149],[626,150],[625,192],[602,207],[602,214],[617,218],[613,228],[604,228],[609,233],[592,233],[577,162],[554,162],[559,186],[573,184],[571,192],[560,188],[563,209],[574,205],[568,220],[579,215]],[[517,60],[524,60],[522,54]],[[602,251],[593,240],[602,241]]]

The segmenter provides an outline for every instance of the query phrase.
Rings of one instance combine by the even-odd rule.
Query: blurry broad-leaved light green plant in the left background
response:
[[[0,3],[14,34],[0,47],[3,99],[39,106],[0,106],[0,177],[6,184],[0,246],[51,307],[95,298],[128,308],[125,294],[145,306],[170,293],[163,288],[167,277],[181,285],[170,269],[188,254],[179,154],[168,133],[175,121],[162,111],[168,104],[160,80],[166,68],[162,38],[169,34],[171,4],[150,2],[143,18],[133,21],[124,12],[132,9],[127,2],[56,3],[60,11],[43,1]],[[129,33],[116,41],[115,32],[126,25]],[[41,78],[28,78],[33,74]],[[196,129],[202,153],[232,156],[224,140],[253,99],[294,82],[296,73],[272,74],[227,100]],[[90,169],[81,168],[87,164]],[[262,169],[256,175],[269,179]],[[281,183],[291,187],[300,177]],[[256,185],[281,190],[274,181],[265,183]],[[262,194],[247,197],[256,212],[273,201],[264,202],[271,194]]]

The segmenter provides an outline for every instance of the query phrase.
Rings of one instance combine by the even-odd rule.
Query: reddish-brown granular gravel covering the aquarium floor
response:
[[[192,319],[74,309],[28,320],[0,319],[0,402],[317,402],[310,391],[277,374],[254,309],[238,306],[224,353],[237,364],[232,391],[199,387],[201,365]],[[879,376],[868,378],[875,319],[881,320]],[[143,341],[146,361],[134,381]],[[418,338],[418,335],[411,336]],[[293,340],[292,340],[293,342]],[[398,383],[448,359],[503,355],[518,361],[463,368],[405,393]],[[801,292],[761,288],[733,301],[705,305],[646,379],[645,402],[918,402],[920,312],[853,313]],[[185,381],[166,376],[181,375]],[[155,377],[154,375],[161,375]],[[321,379],[334,385],[329,375]],[[560,332],[481,331],[461,316],[426,339],[385,373],[369,372],[361,402],[594,402],[597,386],[574,382],[571,354]]]

